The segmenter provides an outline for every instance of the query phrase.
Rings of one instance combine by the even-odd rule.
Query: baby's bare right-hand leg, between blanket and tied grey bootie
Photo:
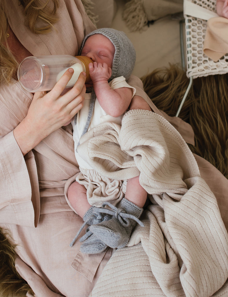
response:
[[[125,198],[143,208],[147,200],[147,192],[139,184],[139,176],[128,179]]]

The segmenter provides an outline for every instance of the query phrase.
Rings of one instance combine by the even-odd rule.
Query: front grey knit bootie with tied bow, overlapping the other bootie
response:
[[[105,209],[105,205],[110,206],[113,210]],[[113,217],[108,221],[91,225],[89,231],[109,247],[125,247],[136,222],[144,227],[143,223],[138,219],[142,214],[143,208],[126,198],[121,200],[118,208],[108,202],[103,203],[102,207],[107,213],[113,214]]]

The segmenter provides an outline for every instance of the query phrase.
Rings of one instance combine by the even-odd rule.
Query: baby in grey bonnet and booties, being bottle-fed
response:
[[[136,90],[126,83],[136,58],[126,34],[110,28],[97,29],[85,37],[79,54],[93,61],[89,64],[91,82],[86,85],[92,86],[93,91],[86,94],[83,108],[72,121],[75,156],[81,172],[68,189],[68,200],[83,218],[84,225],[90,225],[80,239],[84,241],[81,252],[93,254],[108,246],[126,246],[136,222],[142,225],[138,218],[147,192],[139,184],[138,176],[128,181],[100,176],[77,153],[80,138],[104,121],[121,125],[128,108],[150,110],[150,106],[141,97],[134,96]],[[114,211],[105,208],[106,205]]]

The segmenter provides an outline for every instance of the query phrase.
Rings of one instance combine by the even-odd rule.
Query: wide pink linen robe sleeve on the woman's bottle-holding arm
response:
[[[31,94],[32,96],[32,94]],[[31,98],[17,87],[0,91],[0,220],[1,223],[37,225],[39,188],[33,152],[23,156],[13,129],[25,117]]]

